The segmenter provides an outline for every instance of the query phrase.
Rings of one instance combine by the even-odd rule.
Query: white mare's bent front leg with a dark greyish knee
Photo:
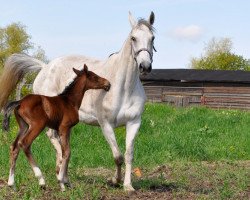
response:
[[[116,172],[115,172],[115,176],[113,178],[111,178],[111,180],[109,180],[109,182],[111,182],[111,184],[118,186],[121,183],[122,180],[122,174],[121,174],[121,167],[122,164],[124,162],[123,160],[123,156],[120,152],[120,149],[117,145],[116,142],[116,138],[115,138],[115,132],[114,132],[114,128],[109,124],[109,123],[105,123],[103,125],[101,125],[102,128],[102,132],[112,150],[113,153],[113,157],[115,160],[115,164],[116,164]]]

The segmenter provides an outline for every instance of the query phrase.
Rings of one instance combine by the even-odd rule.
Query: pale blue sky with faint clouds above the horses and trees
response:
[[[230,38],[233,52],[250,58],[248,0],[0,0],[0,27],[26,26],[49,60],[81,54],[106,59],[119,51],[135,19],[155,13],[154,69],[189,68],[212,38]]]

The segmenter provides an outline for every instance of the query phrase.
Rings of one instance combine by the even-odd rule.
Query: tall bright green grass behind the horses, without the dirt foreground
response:
[[[11,127],[9,134],[0,131],[0,179],[4,180],[8,178],[9,146],[17,132],[14,119]],[[116,129],[116,136],[124,153],[125,129]],[[77,174],[83,168],[114,167],[110,147],[98,127],[75,126],[71,150],[70,173]],[[45,177],[51,175],[56,185],[55,151],[44,133],[33,143],[32,152]],[[250,160],[250,112],[147,104],[134,155],[134,166],[141,168],[179,161]],[[73,174],[73,179],[77,179]],[[21,153],[17,161],[17,185],[28,183],[33,176]]]

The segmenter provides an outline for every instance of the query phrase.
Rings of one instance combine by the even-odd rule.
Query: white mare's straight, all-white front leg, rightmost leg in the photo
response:
[[[126,124],[126,152],[125,152],[125,178],[124,178],[124,190],[128,192],[133,192],[134,188],[131,184],[131,172],[132,172],[132,162],[134,157],[134,139],[138,133],[141,125],[141,119],[136,119],[129,121]]]

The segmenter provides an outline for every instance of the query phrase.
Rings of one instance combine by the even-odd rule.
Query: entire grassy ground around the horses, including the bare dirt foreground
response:
[[[33,154],[45,176],[38,181],[24,154],[17,161],[17,192],[6,186],[9,146],[17,132],[0,131],[0,199],[250,199],[250,112],[173,108],[147,104],[136,138],[133,177],[137,191],[128,196],[106,179],[114,172],[111,151],[98,127],[77,125],[71,136],[69,175],[73,189],[60,192],[55,151],[45,134],[33,143]],[[125,130],[116,130],[124,152]]]

